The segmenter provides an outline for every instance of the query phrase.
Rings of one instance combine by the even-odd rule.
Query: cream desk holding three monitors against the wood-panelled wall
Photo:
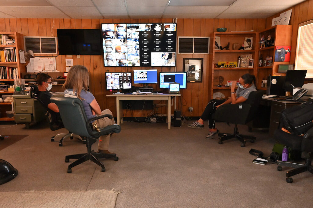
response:
[[[123,123],[122,100],[167,100],[167,123],[171,129],[171,97],[181,96],[180,94],[107,94],[107,97],[116,97],[116,120],[117,124]]]

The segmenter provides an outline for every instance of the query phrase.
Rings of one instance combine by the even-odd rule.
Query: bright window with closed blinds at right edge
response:
[[[305,78],[313,78],[313,20],[299,24],[295,70],[306,69]]]

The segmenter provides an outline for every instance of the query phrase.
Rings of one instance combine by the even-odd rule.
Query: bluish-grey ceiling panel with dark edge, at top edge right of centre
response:
[[[229,6],[236,0],[171,0],[169,6]]]

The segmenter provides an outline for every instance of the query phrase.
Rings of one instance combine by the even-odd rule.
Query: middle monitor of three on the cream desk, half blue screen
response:
[[[157,83],[157,69],[134,70],[134,84]]]

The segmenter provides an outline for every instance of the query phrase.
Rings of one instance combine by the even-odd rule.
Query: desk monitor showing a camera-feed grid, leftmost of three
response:
[[[131,73],[106,72],[106,89],[131,89]]]

